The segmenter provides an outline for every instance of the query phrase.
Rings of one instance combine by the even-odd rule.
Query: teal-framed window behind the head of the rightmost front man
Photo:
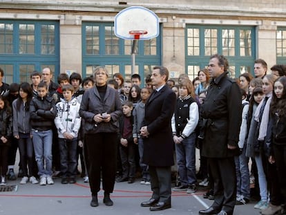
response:
[[[229,60],[229,75],[238,77],[251,72],[255,60],[255,28],[251,26],[197,26],[186,29],[186,73],[191,80],[209,57],[225,55]]]

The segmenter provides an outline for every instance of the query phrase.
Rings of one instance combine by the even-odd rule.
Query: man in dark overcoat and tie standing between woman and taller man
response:
[[[166,85],[169,71],[155,66],[151,80],[155,90],[145,104],[145,118],[141,135],[144,138],[143,162],[149,165],[151,199],[141,203],[151,211],[171,207],[171,166],[173,162],[173,135],[171,118],[175,109],[175,93]]]

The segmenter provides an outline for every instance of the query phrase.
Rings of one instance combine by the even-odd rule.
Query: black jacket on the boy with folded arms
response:
[[[55,100],[52,97],[36,97],[30,103],[30,119],[32,129],[46,131],[53,129],[57,115]]]

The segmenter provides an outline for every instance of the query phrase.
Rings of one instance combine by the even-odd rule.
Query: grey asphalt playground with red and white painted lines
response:
[[[112,207],[102,203],[103,191],[99,191],[99,206],[90,207],[89,184],[82,178],[77,178],[73,185],[61,185],[61,179],[55,179],[54,185],[40,186],[27,183],[19,184],[20,179],[8,180],[7,185],[17,185],[17,191],[0,192],[0,214],[39,214],[39,215],[89,215],[89,214],[116,214],[116,215],[145,215],[145,214],[198,214],[200,209],[211,205],[212,201],[202,198],[205,188],[198,187],[195,194],[186,194],[185,191],[172,192],[172,207],[160,212],[151,212],[149,207],[140,207],[140,203],[151,197],[150,185],[140,185],[140,179],[135,183],[115,183],[115,190],[111,194],[114,202]],[[256,202],[247,205],[238,205],[235,215],[259,214],[254,209]]]

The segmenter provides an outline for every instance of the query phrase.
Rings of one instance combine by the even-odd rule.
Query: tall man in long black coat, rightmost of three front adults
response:
[[[214,181],[213,205],[199,214],[233,214],[236,204],[236,168],[241,124],[241,95],[238,84],[227,75],[229,63],[222,55],[209,60],[212,77],[202,104],[204,140],[202,156],[207,157]]]

